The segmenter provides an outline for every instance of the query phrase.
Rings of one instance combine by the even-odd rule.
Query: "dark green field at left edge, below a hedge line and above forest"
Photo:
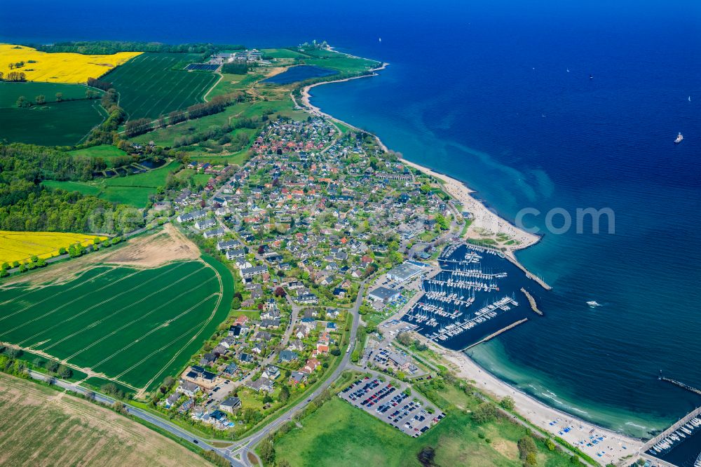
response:
[[[0,142],[71,146],[104,119],[100,100],[74,100],[29,109],[0,108]]]

